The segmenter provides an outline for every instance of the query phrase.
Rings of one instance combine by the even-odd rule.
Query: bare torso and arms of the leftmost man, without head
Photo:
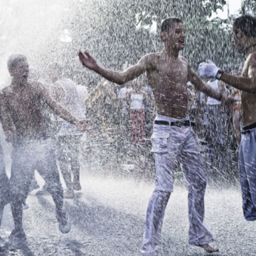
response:
[[[44,118],[45,104],[64,119],[73,123],[75,121],[69,112],[49,96],[43,84],[36,81],[29,80],[19,86],[9,85],[2,90],[2,94],[5,106],[3,123],[12,121],[16,128],[15,135],[19,139],[43,138],[46,135],[48,127]]]

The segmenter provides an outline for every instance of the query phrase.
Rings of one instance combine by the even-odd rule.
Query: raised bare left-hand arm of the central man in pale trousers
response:
[[[87,51],[84,53],[79,51],[78,55],[83,66],[95,71],[105,79],[116,84],[125,84],[126,82],[140,76],[143,72],[150,68],[150,54],[145,55],[136,65],[126,69],[124,72],[117,72],[100,67]]]

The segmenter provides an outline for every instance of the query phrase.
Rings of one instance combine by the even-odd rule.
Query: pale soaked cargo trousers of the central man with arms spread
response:
[[[157,115],[155,120],[177,121]],[[184,119],[186,120],[186,119]],[[148,203],[143,235],[143,255],[157,255],[165,208],[173,191],[173,173],[178,160],[188,190],[189,244],[203,245],[213,241],[203,224],[206,178],[200,148],[190,126],[154,125],[152,152],[155,157],[155,189]]]

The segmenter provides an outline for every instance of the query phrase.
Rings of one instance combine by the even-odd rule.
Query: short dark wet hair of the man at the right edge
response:
[[[233,22],[233,31],[240,28],[247,37],[256,37],[256,18],[251,15],[242,15]]]

